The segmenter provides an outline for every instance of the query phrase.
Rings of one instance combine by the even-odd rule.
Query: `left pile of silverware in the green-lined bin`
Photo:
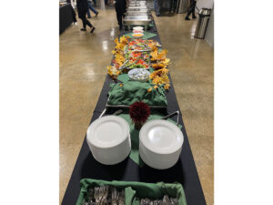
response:
[[[82,205],[125,205],[125,190],[107,185],[90,188]]]

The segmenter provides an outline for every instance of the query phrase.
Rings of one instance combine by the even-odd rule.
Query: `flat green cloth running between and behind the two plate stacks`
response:
[[[135,125],[132,123],[132,119],[130,118],[129,113],[126,111],[122,114],[119,115],[119,117],[124,118],[126,120],[126,122],[128,123],[128,125],[130,126],[130,137],[131,137],[131,153],[129,155],[129,158],[132,159],[133,161],[136,162],[136,164],[139,167],[143,167],[144,166],[144,162],[142,161],[142,159],[139,156],[139,130],[135,129]],[[152,119],[160,119],[163,118],[164,116],[157,112],[157,111],[153,111],[153,114],[151,114],[149,116],[148,120],[152,120]],[[170,121],[174,124],[177,124],[177,122],[175,122],[174,120],[168,118],[167,121]],[[178,125],[178,128],[182,128],[181,125]]]

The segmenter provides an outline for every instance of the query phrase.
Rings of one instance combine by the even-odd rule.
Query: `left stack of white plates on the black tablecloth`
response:
[[[131,151],[130,128],[124,118],[97,118],[87,129],[86,141],[94,158],[105,165],[117,164]]]

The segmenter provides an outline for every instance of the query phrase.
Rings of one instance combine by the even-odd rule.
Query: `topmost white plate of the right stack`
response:
[[[179,128],[163,119],[148,121],[139,132],[146,149],[157,154],[171,154],[181,149],[184,136]]]

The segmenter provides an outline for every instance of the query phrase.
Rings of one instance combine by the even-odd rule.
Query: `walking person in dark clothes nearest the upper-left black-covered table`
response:
[[[81,31],[86,31],[86,25],[91,28],[90,33],[93,33],[95,30],[95,27],[91,25],[91,23],[86,19],[88,4],[87,0],[76,0],[76,8],[78,17],[82,19],[83,21],[83,28],[81,28]]]

